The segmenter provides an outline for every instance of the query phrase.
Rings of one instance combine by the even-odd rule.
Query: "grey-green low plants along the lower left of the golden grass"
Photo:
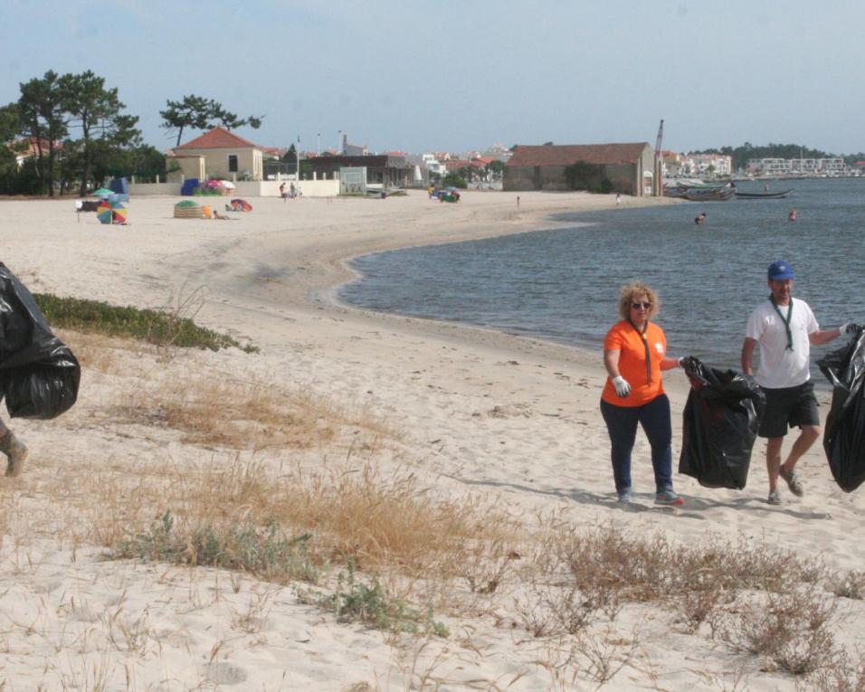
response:
[[[242,570],[279,583],[317,583],[320,570],[309,555],[311,538],[309,533],[286,537],[276,522],[178,530],[168,510],[147,532],[120,541],[111,557]]]

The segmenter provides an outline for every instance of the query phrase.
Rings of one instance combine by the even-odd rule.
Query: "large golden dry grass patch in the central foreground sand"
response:
[[[396,568],[418,576],[435,570],[439,578],[457,578],[461,565],[478,559],[479,545],[499,552],[504,536],[512,544],[516,529],[506,513],[480,509],[476,498],[437,498],[410,472],[383,479],[368,464],[275,475],[262,463],[235,460],[226,467],[162,468],[141,482],[151,488],[135,504],[171,507],[185,536],[205,524],[222,536],[237,526],[281,526],[309,532],[320,564],[344,563],[350,556],[373,572]],[[91,503],[99,500],[100,516],[114,526],[135,526],[129,503],[117,500],[116,485],[108,477],[94,485],[88,496]],[[140,484],[137,490],[144,491]],[[115,531],[100,536],[105,545],[117,537]]]

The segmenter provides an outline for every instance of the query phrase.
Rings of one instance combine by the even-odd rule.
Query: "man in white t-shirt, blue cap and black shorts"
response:
[[[760,345],[760,366],[756,381],[765,392],[765,413],[760,437],[768,438],[765,462],[769,474],[770,505],[780,505],[778,476],[794,495],[803,495],[796,462],[820,437],[820,415],[811,382],[811,345],[828,344],[858,327],[851,323],[823,331],[808,304],[793,299],[793,267],[785,261],[769,265],[767,283],[772,295],[758,305],[748,318],[742,344],[742,372],[753,374],[754,348]],[[787,427],[798,426],[799,437],[781,463],[781,445]]]

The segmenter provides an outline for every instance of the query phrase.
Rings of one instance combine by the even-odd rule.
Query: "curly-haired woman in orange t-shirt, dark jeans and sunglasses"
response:
[[[632,502],[631,452],[642,425],[651,446],[655,473],[655,504],[678,506],[684,499],[673,492],[670,399],[661,371],[681,366],[667,356],[667,338],[651,318],[661,309],[658,294],[634,282],[619,290],[619,316],[604,338],[607,378],[601,393],[601,414],[610,434],[613,480],[619,501]]]

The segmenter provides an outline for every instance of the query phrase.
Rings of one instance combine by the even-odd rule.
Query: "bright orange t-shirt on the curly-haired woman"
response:
[[[606,403],[612,403],[613,406],[642,406],[664,393],[661,361],[667,353],[667,338],[664,337],[664,330],[651,322],[644,336],[645,344],[643,335],[626,319],[613,325],[607,332],[604,351],[621,351],[619,374],[631,384],[631,393],[620,399],[615,393],[613,381],[607,377],[604,392],[601,393],[601,399]],[[646,375],[646,344],[649,346],[651,382]]]

